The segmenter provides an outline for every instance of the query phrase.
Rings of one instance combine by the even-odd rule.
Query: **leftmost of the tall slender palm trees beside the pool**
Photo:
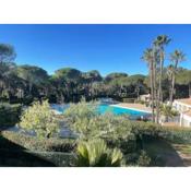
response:
[[[151,85],[151,95],[152,95],[152,121],[155,121],[154,114],[154,50],[152,48],[147,48],[143,52],[142,59],[148,64],[150,68],[150,85]]]

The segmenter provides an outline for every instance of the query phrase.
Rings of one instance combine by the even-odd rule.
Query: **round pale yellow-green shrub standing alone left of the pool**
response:
[[[34,130],[40,138],[50,138],[59,129],[59,120],[51,110],[48,100],[33,103],[21,117],[20,126]]]

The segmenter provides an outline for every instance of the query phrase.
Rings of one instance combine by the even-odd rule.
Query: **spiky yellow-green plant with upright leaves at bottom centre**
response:
[[[80,142],[76,148],[76,166],[81,167],[118,167],[123,162],[120,150],[110,150],[104,140]]]

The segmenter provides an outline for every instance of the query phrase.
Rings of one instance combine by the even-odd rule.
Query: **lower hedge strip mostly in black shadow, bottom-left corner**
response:
[[[70,167],[73,164],[74,155],[72,153],[0,148],[1,167]]]

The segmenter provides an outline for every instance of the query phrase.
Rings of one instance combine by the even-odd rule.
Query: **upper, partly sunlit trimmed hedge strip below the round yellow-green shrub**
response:
[[[11,131],[0,134],[0,148],[29,150],[39,152],[72,152],[76,141],[72,139],[37,139]]]

